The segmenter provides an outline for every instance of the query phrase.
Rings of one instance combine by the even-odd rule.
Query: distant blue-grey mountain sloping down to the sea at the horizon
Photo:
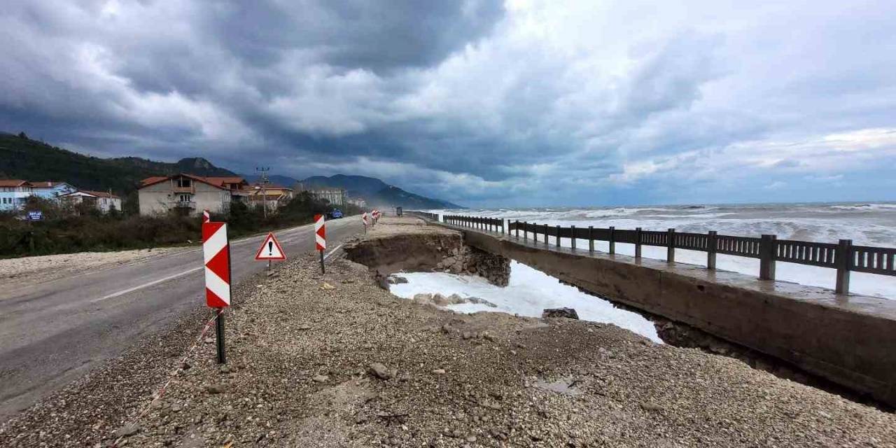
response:
[[[375,177],[346,176],[338,174],[332,177],[314,176],[302,181],[308,186],[335,186],[345,188],[349,197],[364,198],[369,205],[375,207],[404,207],[406,209],[462,209],[461,205],[441,199],[428,198],[413,194],[401,188],[388,185]]]

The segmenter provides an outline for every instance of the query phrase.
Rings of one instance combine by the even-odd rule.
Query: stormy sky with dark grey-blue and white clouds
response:
[[[0,130],[468,206],[896,200],[896,2],[7,0]]]

